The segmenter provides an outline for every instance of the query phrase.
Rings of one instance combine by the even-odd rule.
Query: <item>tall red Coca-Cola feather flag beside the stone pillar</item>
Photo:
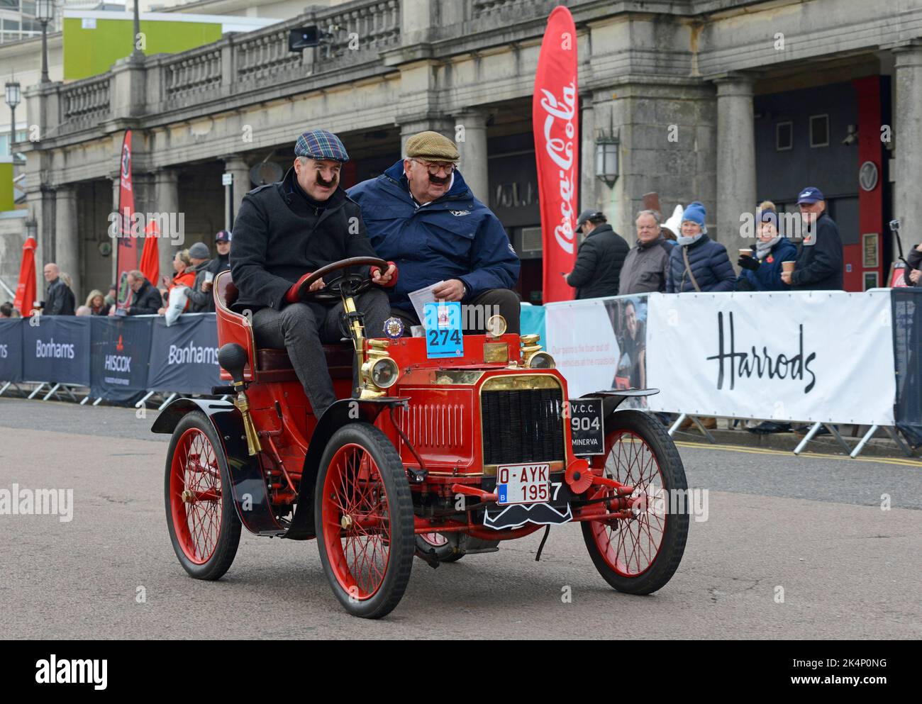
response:
[[[548,27],[544,30],[532,99],[545,303],[573,299],[573,288],[563,276],[573,271],[576,262],[578,110],[576,27],[570,10],[558,6],[551,11]]]

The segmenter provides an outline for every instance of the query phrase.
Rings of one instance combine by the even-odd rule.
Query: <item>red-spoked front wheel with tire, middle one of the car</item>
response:
[[[326,445],[314,496],[326,578],[350,614],[381,618],[407,589],[413,504],[390,440],[367,423],[339,428]]]

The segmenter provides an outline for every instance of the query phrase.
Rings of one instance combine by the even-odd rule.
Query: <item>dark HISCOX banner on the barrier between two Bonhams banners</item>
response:
[[[94,316],[89,323],[89,394],[112,404],[136,402],[148,384],[152,319]]]

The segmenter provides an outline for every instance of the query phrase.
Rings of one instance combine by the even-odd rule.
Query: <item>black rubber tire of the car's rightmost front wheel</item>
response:
[[[643,411],[616,411],[612,421],[606,424],[609,436],[619,430],[631,430],[646,442],[659,463],[664,489],[670,491],[688,488],[679,451],[655,417]],[[683,511],[668,514],[662,545],[653,564],[636,577],[626,577],[609,567],[599,551],[591,525],[590,522],[583,522],[583,539],[598,573],[619,592],[649,594],[662,589],[679,567],[689,532],[688,501],[684,502]]]

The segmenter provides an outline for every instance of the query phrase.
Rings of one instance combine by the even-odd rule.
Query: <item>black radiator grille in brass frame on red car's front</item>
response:
[[[480,405],[484,464],[563,459],[559,389],[485,391]]]

